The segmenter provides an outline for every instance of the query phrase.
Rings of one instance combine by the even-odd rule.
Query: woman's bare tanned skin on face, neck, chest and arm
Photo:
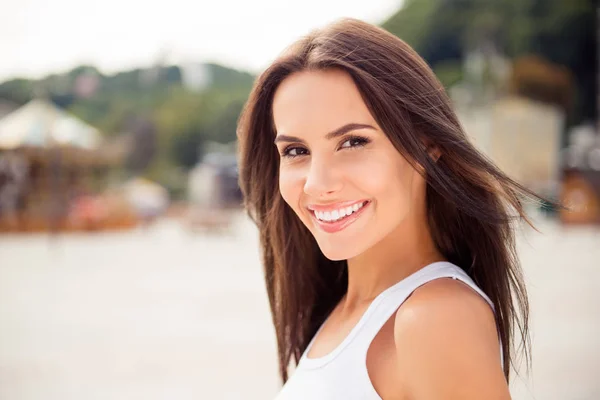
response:
[[[275,93],[273,119],[281,196],[326,257],[348,260],[348,291],[308,355],[321,357],[379,293],[443,257],[427,225],[425,179],[382,132],[347,73],[292,74]],[[331,134],[348,124],[361,126]],[[335,233],[321,229],[309,208],[348,201],[368,205]],[[508,399],[499,360],[491,308],[462,283],[440,279],[388,321],[367,368],[383,399]]]

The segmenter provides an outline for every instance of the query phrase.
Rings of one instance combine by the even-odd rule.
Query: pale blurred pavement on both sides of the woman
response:
[[[600,399],[600,230],[521,233],[533,374],[514,399]],[[0,236],[0,399],[249,399],[277,392],[257,234]]]

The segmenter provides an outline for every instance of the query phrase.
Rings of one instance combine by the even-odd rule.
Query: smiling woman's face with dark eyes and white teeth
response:
[[[350,259],[407,233],[402,225],[424,202],[424,180],[381,131],[350,75],[292,74],[275,93],[273,118],[281,196],[326,257]]]

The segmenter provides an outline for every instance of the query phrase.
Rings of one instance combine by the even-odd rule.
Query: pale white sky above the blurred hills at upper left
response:
[[[402,0],[0,0],[0,81],[91,64],[104,73],[219,62],[249,71],[341,17],[379,23]]]

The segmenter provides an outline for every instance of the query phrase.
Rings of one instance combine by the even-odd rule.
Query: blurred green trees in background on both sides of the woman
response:
[[[413,46],[446,87],[463,79],[466,54],[486,46],[512,59],[534,54],[567,68],[573,77],[574,105],[568,118],[577,123],[596,113],[595,19],[591,0],[405,0],[383,27]],[[217,64],[204,68],[209,82],[201,91],[185,88],[177,66],[110,76],[80,66],[40,80],[1,83],[0,99],[22,105],[34,96],[49,96],[108,139],[127,134],[132,117],[150,115],[157,151],[148,173],[169,180],[179,172],[169,178],[165,171],[193,166],[206,141],[227,143],[236,138],[237,119],[254,77]],[[535,86],[540,73],[532,74],[532,68],[521,71],[520,81],[529,83],[520,93],[540,97]],[[98,79],[90,97],[78,93],[82,75]]]

